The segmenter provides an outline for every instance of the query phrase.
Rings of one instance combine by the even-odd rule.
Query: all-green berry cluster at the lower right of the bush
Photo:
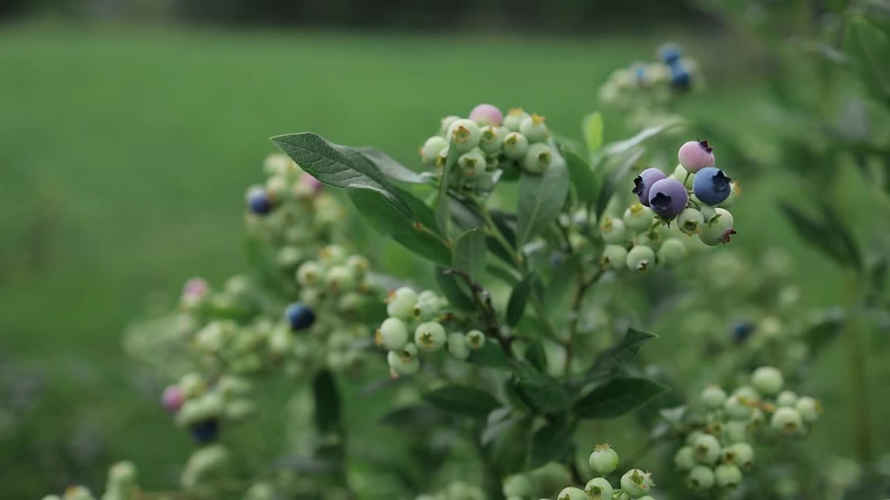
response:
[[[818,400],[783,390],[784,379],[774,367],[759,367],[750,385],[727,394],[717,385],[701,391],[696,413],[689,417],[695,430],[674,456],[676,467],[687,472],[687,485],[698,491],[729,490],[740,485],[743,471],[754,465],[751,441],[757,437],[805,436],[819,420]]]

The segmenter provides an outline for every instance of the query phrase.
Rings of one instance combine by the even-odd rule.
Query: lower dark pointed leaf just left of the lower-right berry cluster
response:
[[[645,378],[613,378],[575,403],[581,418],[610,419],[642,407],[667,391],[667,386]]]

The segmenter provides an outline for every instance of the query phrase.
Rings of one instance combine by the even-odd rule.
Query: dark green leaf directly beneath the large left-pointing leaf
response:
[[[411,208],[414,218],[392,207],[382,196],[370,190],[351,190],[349,198],[360,216],[384,237],[392,238],[411,252],[443,266],[451,265],[451,249],[417,224],[435,232],[435,216],[429,206],[402,190],[395,190]],[[432,226],[429,225],[432,222]]]

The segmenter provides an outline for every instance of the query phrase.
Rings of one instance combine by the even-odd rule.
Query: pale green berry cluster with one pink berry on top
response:
[[[424,165],[441,169],[454,149],[457,164],[449,173],[449,188],[484,194],[501,175],[520,171],[544,173],[554,161],[550,130],[544,117],[522,109],[506,116],[491,104],[480,104],[470,116],[441,119],[439,133],[420,147]]]

